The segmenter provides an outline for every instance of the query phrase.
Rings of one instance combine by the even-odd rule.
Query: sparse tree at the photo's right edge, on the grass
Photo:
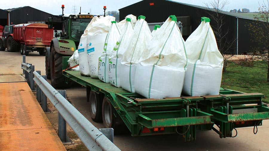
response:
[[[259,43],[259,47],[255,48],[255,52],[258,52],[258,58],[262,60],[259,67],[267,70],[267,82],[269,82],[269,0],[259,4],[258,10],[259,13],[254,15],[255,22],[248,24],[248,28],[252,31],[252,41]]]

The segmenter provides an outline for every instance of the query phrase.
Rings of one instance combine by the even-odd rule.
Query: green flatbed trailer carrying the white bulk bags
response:
[[[63,69],[68,58],[63,57]],[[262,120],[269,119],[269,108],[262,104],[265,96],[260,93],[221,88],[219,95],[146,99],[99,79],[81,76],[80,71],[67,70],[63,75],[67,83],[74,81],[87,88],[91,114],[95,113],[92,119],[98,122],[103,116],[104,126],[114,128],[115,133],[126,125],[132,136],[178,133],[184,141],[193,141],[196,131],[214,130],[220,138],[235,137],[236,128],[255,129]]]

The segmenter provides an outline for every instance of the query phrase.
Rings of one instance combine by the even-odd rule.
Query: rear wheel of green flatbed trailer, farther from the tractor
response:
[[[114,134],[126,133],[128,131],[126,125],[120,118],[119,114],[117,114],[117,117],[115,117],[113,111],[114,107],[112,106],[111,102],[106,97],[104,97],[102,105],[102,116],[105,128],[113,128]]]

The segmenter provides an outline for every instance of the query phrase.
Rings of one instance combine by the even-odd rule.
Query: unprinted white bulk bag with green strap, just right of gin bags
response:
[[[137,63],[152,35],[145,16],[140,15],[132,32],[127,51],[123,53],[120,67],[120,83],[123,89],[135,92],[135,71]]]

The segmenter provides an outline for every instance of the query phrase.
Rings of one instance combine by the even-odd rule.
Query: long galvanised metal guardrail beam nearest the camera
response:
[[[94,127],[65,97],[55,90],[41,75],[33,72],[36,85],[48,97],[63,119],[70,125],[88,150],[120,151],[99,129]],[[103,131],[103,130],[102,130]]]

